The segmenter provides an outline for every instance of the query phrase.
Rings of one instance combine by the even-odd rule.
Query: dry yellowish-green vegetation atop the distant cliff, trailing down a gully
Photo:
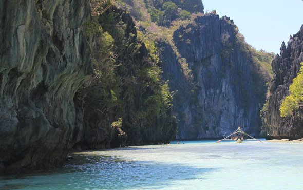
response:
[[[142,32],[145,39],[155,42],[155,46],[162,41],[169,44],[177,55],[185,78],[188,81],[193,80],[186,59],[182,58],[175,46],[173,34],[180,26],[186,27],[194,22],[194,18],[203,15],[203,4],[200,0],[119,0],[116,6],[130,12],[136,20],[137,30]],[[188,40],[187,42],[190,43]]]

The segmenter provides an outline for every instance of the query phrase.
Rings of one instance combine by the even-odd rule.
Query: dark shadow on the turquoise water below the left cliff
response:
[[[148,156],[148,155],[146,155]],[[204,180],[203,173],[219,168],[197,168],[183,164],[129,161],[117,156],[74,155],[63,169],[0,178],[0,189],[142,189],[159,188],[172,181]]]

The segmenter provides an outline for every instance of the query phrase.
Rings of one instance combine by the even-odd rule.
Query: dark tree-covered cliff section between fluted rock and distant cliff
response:
[[[127,134],[128,144],[169,142],[176,131],[171,116],[174,92],[161,78],[154,42],[117,8],[86,23],[85,31],[93,49],[94,74],[75,102],[83,110],[85,128],[98,135],[91,142],[84,134],[83,144],[89,148],[123,145],[126,139],[111,141],[117,132],[119,137]],[[115,124],[113,130],[117,121],[121,125]]]

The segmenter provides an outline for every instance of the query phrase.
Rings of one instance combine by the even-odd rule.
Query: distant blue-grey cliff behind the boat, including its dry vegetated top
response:
[[[259,104],[270,74],[230,18],[203,14],[198,0],[172,1],[178,10],[171,14],[163,1],[124,2],[142,33],[157,43],[163,78],[178,91],[173,99],[178,139],[218,138],[238,126],[259,135]],[[193,14],[184,16],[184,10]]]

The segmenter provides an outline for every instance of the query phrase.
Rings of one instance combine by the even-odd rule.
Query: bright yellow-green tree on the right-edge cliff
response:
[[[294,78],[293,84],[289,87],[289,91],[291,94],[282,100],[280,116],[292,116],[295,118],[293,111],[303,107],[303,63],[301,63],[300,73]],[[299,117],[303,118],[302,116]]]

